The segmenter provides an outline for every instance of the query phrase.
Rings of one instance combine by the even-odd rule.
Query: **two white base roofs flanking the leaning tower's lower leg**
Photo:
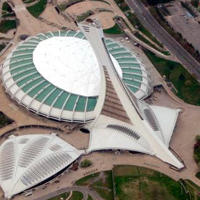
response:
[[[149,125],[154,126],[153,134],[159,138],[163,145],[169,147],[180,110],[161,106],[143,108],[144,111],[147,111],[147,109],[148,112],[144,113],[144,118],[149,122]],[[154,124],[155,122],[157,123]],[[150,145],[151,141],[145,140],[141,134],[141,130],[136,125],[123,123],[116,119],[103,119],[103,117],[99,119],[98,124],[96,124],[90,134],[88,152],[105,149],[122,149],[150,155],[155,154]],[[149,134],[152,134],[151,130],[149,130]],[[102,140],[102,138],[106,138],[106,140]]]

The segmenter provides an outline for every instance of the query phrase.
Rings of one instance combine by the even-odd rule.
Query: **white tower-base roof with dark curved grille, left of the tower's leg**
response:
[[[102,121],[108,121],[105,123]],[[90,134],[87,152],[99,150],[127,150],[153,155],[148,143],[133,126],[107,117],[99,118],[100,124],[94,127]],[[106,140],[102,140],[106,138]]]

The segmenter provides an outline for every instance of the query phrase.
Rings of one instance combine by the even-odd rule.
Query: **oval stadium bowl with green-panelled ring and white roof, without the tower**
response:
[[[151,81],[139,58],[106,39],[115,69],[138,99],[147,97]],[[96,117],[101,87],[97,58],[83,33],[40,33],[20,43],[3,64],[6,92],[37,114],[59,121],[88,122]]]

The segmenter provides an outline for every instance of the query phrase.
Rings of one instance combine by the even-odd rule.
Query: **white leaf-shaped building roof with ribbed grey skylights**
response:
[[[0,185],[5,197],[50,178],[81,153],[55,134],[11,136],[0,146]]]

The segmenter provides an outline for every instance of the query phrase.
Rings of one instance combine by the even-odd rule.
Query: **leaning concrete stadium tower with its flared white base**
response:
[[[94,49],[102,83],[96,106],[99,115],[90,125],[88,152],[103,149],[137,151],[182,169],[183,163],[168,149],[180,110],[139,101],[117,73],[99,22],[89,20],[80,23],[79,27]]]

